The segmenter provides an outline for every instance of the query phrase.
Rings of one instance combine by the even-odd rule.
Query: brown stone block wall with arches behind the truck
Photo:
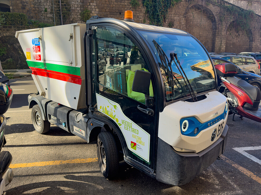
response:
[[[133,10],[135,22],[149,24],[146,8],[143,6],[142,0],[138,1],[140,5],[133,8],[130,0],[61,0],[62,10],[67,16],[66,21],[63,18],[64,23],[85,23],[81,20],[80,13],[87,8],[91,11],[91,16],[99,15],[119,20],[124,18],[125,10]],[[216,5],[217,3],[222,2],[221,0],[182,0],[169,9],[163,26],[191,33],[203,43],[208,51],[232,52],[235,51],[232,49],[235,47],[244,48],[244,51],[261,51],[261,16],[256,15],[250,28],[240,29],[236,40],[233,40],[234,36],[230,36],[230,34],[235,32],[228,27],[235,22],[236,17]],[[23,12],[28,15],[29,19],[41,22],[54,23],[53,12],[55,10],[56,24],[61,24],[59,0],[54,0],[54,8],[50,0],[10,0],[10,4],[11,12]],[[241,40],[247,40],[249,44]],[[246,44],[244,47],[242,47],[243,43]],[[232,44],[236,44],[235,47],[231,47]]]

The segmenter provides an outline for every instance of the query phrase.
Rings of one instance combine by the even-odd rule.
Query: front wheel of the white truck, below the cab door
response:
[[[119,172],[119,157],[116,142],[110,132],[99,133],[97,154],[103,176],[106,179],[116,179]]]

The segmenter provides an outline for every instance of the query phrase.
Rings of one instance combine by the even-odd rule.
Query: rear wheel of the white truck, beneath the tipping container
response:
[[[50,130],[50,122],[43,120],[43,116],[38,105],[34,105],[32,108],[32,122],[35,131],[40,134],[46,133]]]

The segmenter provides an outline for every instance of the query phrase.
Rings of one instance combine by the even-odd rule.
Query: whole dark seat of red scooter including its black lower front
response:
[[[240,89],[244,90],[244,92],[246,92],[246,94],[250,97],[253,105],[245,103],[245,105],[243,106],[244,108],[246,108],[247,110],[258,110],[258,106],[261,100],[261,91],[258,87],[254,87],[248,82],[236,77],[227,77],[227,80]]]

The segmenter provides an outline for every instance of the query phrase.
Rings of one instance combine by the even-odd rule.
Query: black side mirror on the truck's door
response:
[[[150,96],[150,76],[149,72],[143,70],[136,70],[133,78],[132,90],[134,92],[144,93]]]

